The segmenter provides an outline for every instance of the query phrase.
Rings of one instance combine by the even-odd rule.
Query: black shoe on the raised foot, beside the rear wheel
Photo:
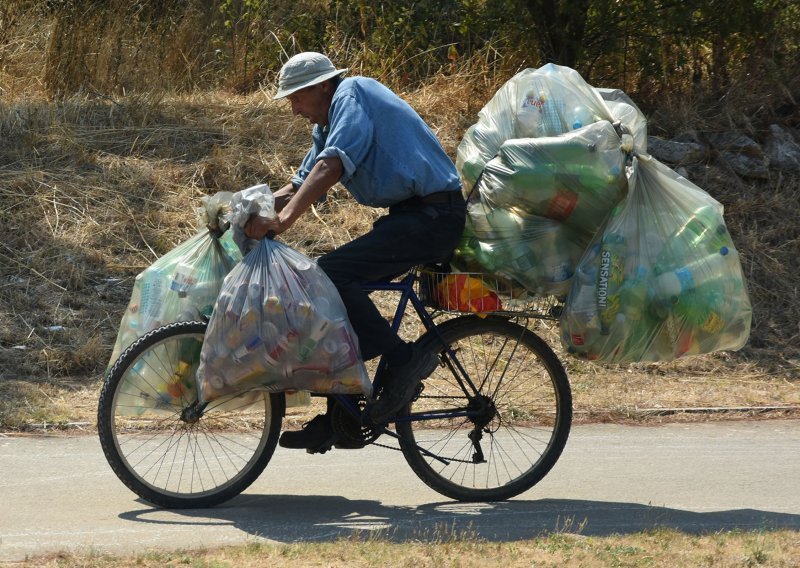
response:
[[[386,369],[383,392],[377,401],[367,405],[367,413],[373,424],[383,424],[394,417],[411,402],[422,379],[436,367],[438,355],[433,351],[421,351],[411,345],[411,359],[399,367]]]

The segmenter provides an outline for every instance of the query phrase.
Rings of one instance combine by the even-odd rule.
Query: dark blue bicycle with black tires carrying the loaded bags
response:
[[[414,473],[440,494],[460,501],[509,499],[547,475],[569,436],[566,371],[523,325],[530,318],[555,319],[558,306],[543,301],[511,307],[512,299],[491,315],[465,314],[432,301],[430,292],[443,278],[415,268],[400,280],[365,285],[370,292],[400,295],[395,330],[411,304],[425,328],[416,341],[436,351],[438,365],[391,421],[394,431],[388,424],[362,425],[363,397],[355,403],[330,395],[338,403],[337,447],[360,448],[389,436]],[[435,322],[440,316],[445,321]],[[262,390],[204,408],[196,395],[184,397],[180,407],[141,404],[172,388],[178,376],[191,381],[206,326],[171,323],[142,336],[114,363],[100,395],[98,430],[109,464],[134,493],[165,508],[210,507],[244,491],[275,452],[285,415],[284,393]],[[381,368],[373,378],[376,390]],[[142,389],[145,370],[154,378]]]

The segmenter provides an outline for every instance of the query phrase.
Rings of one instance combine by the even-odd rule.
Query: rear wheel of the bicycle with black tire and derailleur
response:
[[[437,329],[481,397],[467,397],[432,332],[420,338],[424,348],[439,351],[440,365],[396,421],[403,455],[423,482],[446,497],[502,501],[519,495],[547,475],[569,437],[572,394],[564,367],[540,337],[505,318],[464,316]],[[482,418],[452,416],[481,402]],[[413,420],[433,410],[450,416]],[[481,419],[484,424],[476,427]],[[469,437],[476,430],[484,451],[481,463]]]

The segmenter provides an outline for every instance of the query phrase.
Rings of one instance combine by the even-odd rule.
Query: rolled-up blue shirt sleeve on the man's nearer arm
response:
[[[317,154],[315,161],[339,158],[343,169],[340,181],[346,183],[369,152],[375,128],[362,104],[352,94],[342,97],[331,107],[329,124],[331,129],[325,147]]]

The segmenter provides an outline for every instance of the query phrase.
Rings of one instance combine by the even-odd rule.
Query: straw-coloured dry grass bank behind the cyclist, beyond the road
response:
[[[153,91],[48,100],[24,72],[44,64],[46,34],[31,25],[0,50],[0,425],[14,429],[93,422],[90,403],[135,275],[193,234],[202,196],[285,183],[309,134],[271,100],[271,87],[247,96]],[[475,60],[402,95],[454,156],[505,79]],[[653,129],[677,133],[695,115],[704,127],[736,120],[722,111],[701,120],[702,109],[686,104],[666,101]],[[751,341],[739,353],[663,365],[608,367],[565,356],[579,418],[798,405],[800,180],[745,182],[713,163],[692,174],[726,206],[754,304]],[[336,188],[284,240],[316,256],[380,214]],[[415,331],[412,324],[404,333]],[[543,333],[558,345],[552,331]]]

